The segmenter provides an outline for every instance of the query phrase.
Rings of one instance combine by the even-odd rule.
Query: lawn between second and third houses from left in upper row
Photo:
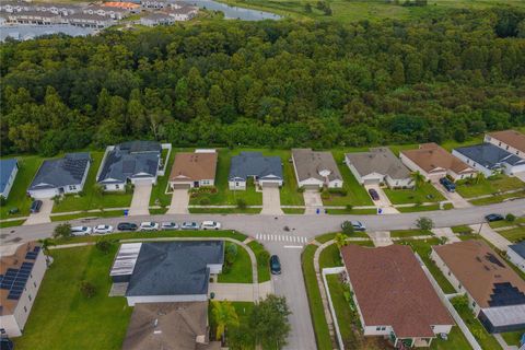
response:
[[[104,152],[92,151],[91,158],[93,162],[84,184],[82,196],[68,195],[65,196],[58,205],[52,207],[52,212],[68,212],[78,210],[106,209],[106,208],[128,208],[131,205],[132,194],[125,192],[106,192],[100,195],[95,191],[96,173],[104,156]]]

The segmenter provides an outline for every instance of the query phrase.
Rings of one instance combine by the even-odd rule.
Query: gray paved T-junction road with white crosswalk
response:
[[[273,280],[276,293],[285,295],[293,314],[290,317],[292,332],[289,338],[287,349],[310,350],[315,349],[315,339],[313,326],[310,317],[310,308],[304,288],[303,276],[301,271],[301,252],[304,238],[313,238],[316,235],[334,232],[339,229],[343,220],[359,220],[363,222],[369,231],[390,231],[406,230],[413,228],[416,219],[419,217],[431,218],[438,228],[447,228],[459,224],[476,224],[483,221],[488,213],[509,212],[515,215],[525,214],[525,199],[506,201],[498,205],[485,207],[470,207],[463,209],[453,209],[446,211],[432,211],[424,213],[400,213],[388,215],[212,215],[212,214],[166,214],[166,215],[147,215],[127,218],[132,222],[140,221],[186,221],[186,220],[217,220],[222,222],[223,228],[237,230],[246,233],[254,238],[257,234],[265,237],[272,235],[272,240],[262,242],[271,254],[278,254],[281,258],[282,275]],[[98,223],[109,223],[116,225],[122,221],[122,218],[97,219],[89,223],[82,220],[71,221],[74,224],[95,225]],[[32,241],[51,235],[56,223],[46,223],[31,226],[18,226],[1,230],[2,244]],[[284,240],[276,236],[296,237],[295,240]],[[292,246],[292,247],[290,247]]]

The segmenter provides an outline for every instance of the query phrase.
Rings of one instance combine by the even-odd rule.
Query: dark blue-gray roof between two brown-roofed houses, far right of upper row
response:
[[[525,164],[525,160],[492,143],[460,147],[456,149],[456,152],[490,170],[500,168],[501,163],[509,165]]]

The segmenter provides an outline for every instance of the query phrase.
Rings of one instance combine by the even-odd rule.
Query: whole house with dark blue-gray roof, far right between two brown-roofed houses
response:
[[[514,175],[525,172],[525,159],[500,149],[493,143],[460,147],[453,150],[452,154],[487,177],[500,173]]]

